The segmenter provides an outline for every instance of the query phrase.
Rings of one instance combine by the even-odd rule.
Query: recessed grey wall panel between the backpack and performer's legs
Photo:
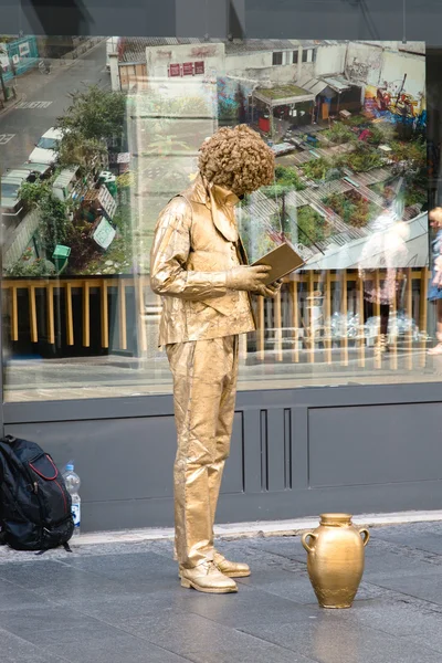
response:
[[[172,417],[21,424],[13,434],[41,444],[60,467],[74,460],[85,502],[171,495]]]

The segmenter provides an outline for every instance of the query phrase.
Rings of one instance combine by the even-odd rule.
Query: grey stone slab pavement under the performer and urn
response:
[[[182,589],[171,543],[0,549],[1,663],[438,663],[442,524],[371,529],[351,610],[317,607],[299,537],[220,541],[238,594]]]

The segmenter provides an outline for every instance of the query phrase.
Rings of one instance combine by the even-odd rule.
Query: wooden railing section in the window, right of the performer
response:
[[[378,290],[383,278],[385,272],[377,270],[372,274],[375,288]],[[400,271],[397,274],[398,290],[403,288],[401,297],[401,309],[409,320],[414,320],[420,332],[420,338],[417,343],[410,330],[404,336],[404,349],[407,350],[406,367],[413,368],[413,348],[422,350],[419,352],[419,365],[425,366],[427,330],[428,330],[428,287],[430,272],[427,267],[411,269]],[[415,285],[418,287],[415,287]],[[338,306],[333,306],[333,295],[338,291]],[[413,296],[414,293],[414,296]],[[319,294],[322,301],[323,325],[319,329],[314,319],[314,306],[312,303]],[[311,304],[309,304],[311,303]],[[335,302],[336,304],[336,302]],[[394,320],[397,315],[397,299],[390,305],[390,320]],[[283,324],[282,313],[287,307],[291,315],[290,324]],[[304,316],[303,316],[304,312]],[[340,338],[332,334],[330,322],[334,313],[341,314],[341,325],[344,327]],[[346,334],[347,314],[359,315],[359,329],[356,339],[349,338]],[[380,318],[380,303],[373,304],[373,316]],[[349,349],[357,350],[357,364],[359,367],[366,366],[367,341],[365,334],[365,292],[364,281],[359,277],[357,271],[340,270],[339,272],[304,272],[297,274],[286,282],[285,290],[278,294],[273,303],[260,297],[256,306],[257,332],[256,332],[256,351],[259,359],[264,361],[269,351],[269,335],[273,330],[274,360],[283,361],[284,358],[284,330],[292,332],[292,362],[302,360],[301,349],[306,350],[306,360],[311,364],[320,357],[325,364],[336,364],[336,352],[333,356],[333,349],[339,350],[340,366],[348,366]],[[398,369],[398,336],[391,334],[389,338],[389,362],[392,370]],[[380,368],[381,359],[379,355],[375,356],[375,366]]]

